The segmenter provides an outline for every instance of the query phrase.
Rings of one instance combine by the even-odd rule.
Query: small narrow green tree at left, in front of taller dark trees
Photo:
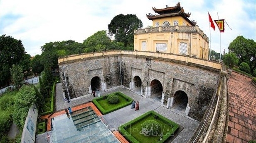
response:
[[[11,75],[15,88],[20,88],[24,83],[24,74],[22,72],[22,67],[20,65],[13,64],[11,68]]]

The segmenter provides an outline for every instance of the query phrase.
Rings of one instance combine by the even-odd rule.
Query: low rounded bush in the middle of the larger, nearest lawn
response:
[[[160,134],[161,127],[158,126],[158,122],[155,120],[148,120],[142,124],[142,133],[145,136],[157,136]]]

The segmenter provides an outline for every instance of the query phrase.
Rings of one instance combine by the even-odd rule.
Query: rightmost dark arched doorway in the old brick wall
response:
[[[185,113],[187,108],[188,98],[184,91],[176,91],[173,96],[173,106],[177,112]]]

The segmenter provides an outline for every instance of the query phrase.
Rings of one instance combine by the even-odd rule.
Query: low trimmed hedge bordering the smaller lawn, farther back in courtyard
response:
[[[108,114],[108,113],[110,113],[110,112],[116,111],[116,110],[118,110],[118,109],[121,109],[121,108],[123,108],[123,107],[125,107],[125,106],[128,106],[128,105],[132,104],[133,99],[130,98],[130,97],[128,97],[128,96],[126,96],[125,94],[123,94],[123,93],[121,93],[121,92],[115,92],[115,93],[111,93],[111,94],[118,95],[120,98],[125,99],[127,102],[124,103],[124,104],[121,104],[121,105],[117,105],[117,106],[115,106],[115,107],[113,107],[113,108],[111,108],[111,109],[105,110],[105,109],[101,106],[101,104],[99,103],[99,101],[107,99],[107,97],[108,97],[110,94],[109,94],[109,95],[106,95],[106,96],[101,96],[101,97],[98,97],[98,98],[94,98],[94,99],[92,100],[92,102],[93,102],[94,105],[98,108],[98,110],[101,111],[102,114]],[[107,102],[107,101],[106,101],[106,102]]]

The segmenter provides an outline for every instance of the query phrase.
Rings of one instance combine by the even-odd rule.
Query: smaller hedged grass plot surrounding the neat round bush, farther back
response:
[[[96,105],[96,107],[101,111],[102,114],[108,114],[108,113],[116,111],[122,107],[128,106],[133,101],[130,97],[126,96],[125,94],[123,94],[121,92],[115,92],[115,93],[111,93],[111,94],[118,95],[119,102],[117,104],[108,103],[106,98],[110,94],[106,95],[106,96],[99,97],[99,98],[94,98],[92,100],[94,105]]]

